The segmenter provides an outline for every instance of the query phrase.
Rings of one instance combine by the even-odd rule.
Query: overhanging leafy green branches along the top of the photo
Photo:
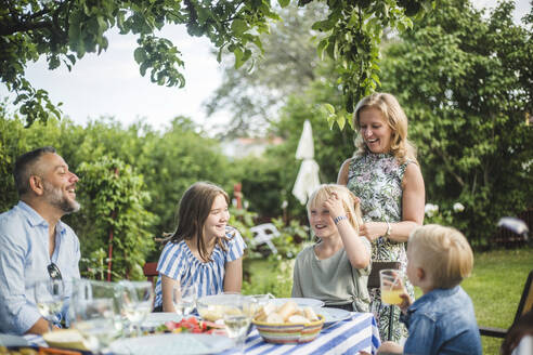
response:
[[[284,8],[290,1],[278,0]],[[310,0],[299,0],[306,6]],[[411,27],[408,16],[429,9],[430,0],[323,1],[325,18],[313,28],[326,34],[318,52],[338,63],[346,107],[378,82],[378,45],[384,27]],[[260,35],[269,31],[269,21],[278,19],[270,0],[5,0],[0,3],[0,79],[16,92],[21,114],[31,124],[61,113],[48,93],[34,89],[25,78],[29,61],[47,57],[49,68],[62,63],[70,68],[86,53],[101,53],[108,45],[105,32],[118,27],[121,34],[139,36],[134,58],[141,75],[147,71],[158,84],[184,84],[184,65],[178,48],[154,32],[165,25],[185,25],[191,36],[206,36],[219,49],[233,53],[235,66],[250,58],[251,48],[261,50]]]

